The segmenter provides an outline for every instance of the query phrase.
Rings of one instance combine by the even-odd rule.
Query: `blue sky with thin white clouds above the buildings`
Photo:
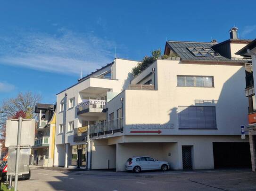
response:
[[[21,91],[56,93],[117,57],[140,60],[165,39],[218,42],[232,26],[256,38],[256,1],[1,1],[0,101]]]

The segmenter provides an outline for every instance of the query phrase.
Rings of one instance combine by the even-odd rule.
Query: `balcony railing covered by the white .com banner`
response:
[[[77,105],[77,115],[87,112],[106,112],[106,101],[99,99],[83,99],[83,102]]]

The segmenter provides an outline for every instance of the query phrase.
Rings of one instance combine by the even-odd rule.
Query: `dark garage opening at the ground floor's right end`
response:
[[[249,143],[213,143],[215,168],[250,168]]]

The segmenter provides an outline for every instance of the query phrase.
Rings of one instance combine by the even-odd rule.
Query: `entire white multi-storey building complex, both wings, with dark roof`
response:
[[[173,169],[250,166],[240,133],[249,60],[234,54],[250,41],[230,33],[222,43],[167,41],[165,54],[178,56],[157,59],[135,78],[137,61],[115,59],[60,92],[54,165],[123,171],[128,158],[146,155]]]

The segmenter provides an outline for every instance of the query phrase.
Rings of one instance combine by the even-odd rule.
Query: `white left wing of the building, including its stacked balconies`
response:
[[[109,120],[106,102],[128,87],[137,63],[116,58],[57,94],[54,166],[86,168],[90,164],[88,127]]]

